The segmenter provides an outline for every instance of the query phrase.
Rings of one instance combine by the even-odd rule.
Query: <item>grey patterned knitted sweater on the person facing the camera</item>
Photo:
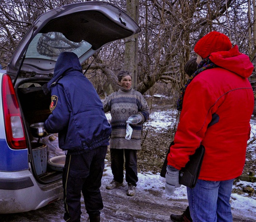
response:
[[[105,112],[111,113],[112,134],[110,138],[111,149],[141,149],[142,124],[149,117],[149,107],[141,93],[134,89],[120,88],[103,101]],[[131,139],[125,139],[126,121],[130,115],[141,114],[142,123],[130,125],[133,129]]]

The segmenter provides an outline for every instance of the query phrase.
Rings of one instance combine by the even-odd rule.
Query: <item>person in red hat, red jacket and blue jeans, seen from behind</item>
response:
[[[177,101],[181,111],[168,154],[166,193],[179,187],[179,170],[201,145],[205,155],[194,188],[187,187],[193,221],[232,222],[229,199],[233,181],[242,174],[254,94],[248,77],[254,69],[228,36],[212,31],[195,45],[198,69]]]

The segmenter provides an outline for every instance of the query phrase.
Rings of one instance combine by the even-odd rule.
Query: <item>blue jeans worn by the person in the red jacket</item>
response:
[[[232,180],[198,180],[194,188],[187,187],[189,211],[193,222],[232,222],[229,199]]]

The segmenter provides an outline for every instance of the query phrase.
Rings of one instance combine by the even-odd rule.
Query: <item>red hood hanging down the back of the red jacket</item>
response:
[[[228,69],[244,78],[248,78],[254,69],[250,58],[240,53],[237,45],[229,51],[212,53],[209,58],[217,66]]]

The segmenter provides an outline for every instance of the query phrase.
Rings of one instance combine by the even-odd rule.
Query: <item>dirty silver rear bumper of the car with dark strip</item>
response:
[[[0,214],[35,210],[63,197],[61,180],[39,184],[29,170],[0,172],[1,182],[4,185],[0,185]]]

